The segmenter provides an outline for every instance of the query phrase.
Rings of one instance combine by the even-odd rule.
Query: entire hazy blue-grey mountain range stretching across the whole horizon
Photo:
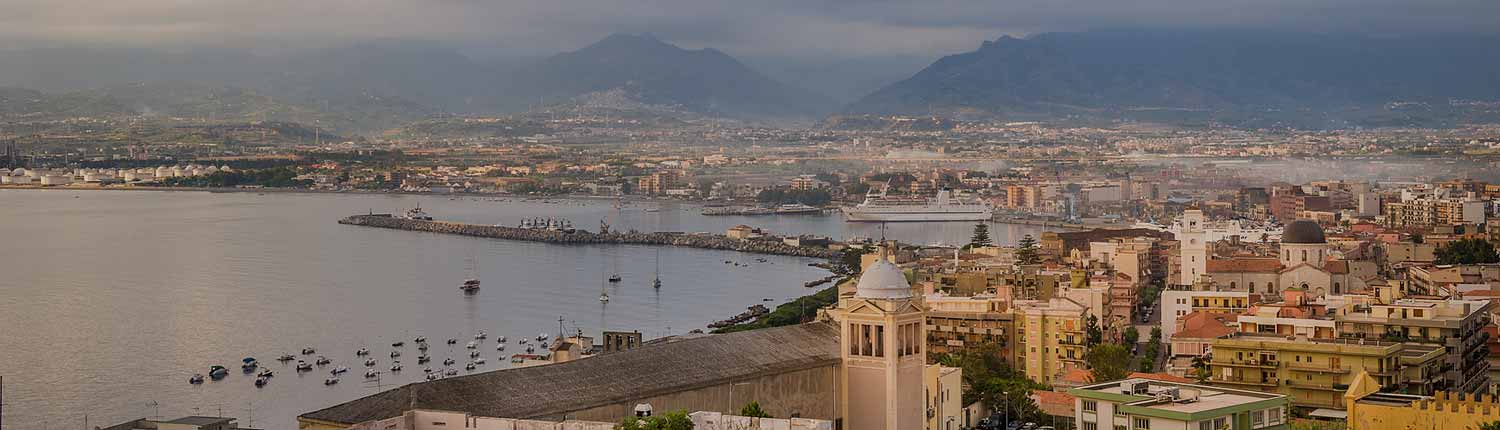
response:
[[[366,135],[542,106],[753,120],[837,112],[1298,127],[1500,121],[1492,108],[1450,102],[1500,100],[1500,37],[1491,36],[1101,30],[1000,37],[902,72],[915,69],[912,61],[778,63],[777,76],[795,79],[784,82],[718,49],[684,49],[651,34],[498,60],[404,40],[285,51],[42,46],[0,49],[0,87],[10,87],[0,90],[0,120],[274,120]],[[856,69],[880,70],[828,84]],[[878,90],[838,102],[856,88]]]

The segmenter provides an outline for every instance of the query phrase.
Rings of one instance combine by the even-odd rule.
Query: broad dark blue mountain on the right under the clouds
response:
[[[1500,99],[1500,37],[1084,31],[1000,37],[944,57],[846,114],[1245,120],[1410,117],[1392,102]],[[1258,112],[1258,114],[1257,114]],[[1396,118],[1400,121],[1400,118]]]

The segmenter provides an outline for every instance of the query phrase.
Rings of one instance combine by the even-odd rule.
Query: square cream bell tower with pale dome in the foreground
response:
[[[854,297],[842,303],[830,315],[842,333],[844,429],[922,429],[924,310],[886,246],[860,276]]]

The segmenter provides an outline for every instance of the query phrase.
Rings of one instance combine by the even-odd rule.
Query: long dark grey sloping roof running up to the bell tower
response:
[[[813,322],[410,384],[302,418],[357,424],[410,409],[538,418],[836,363],[838,330]]]

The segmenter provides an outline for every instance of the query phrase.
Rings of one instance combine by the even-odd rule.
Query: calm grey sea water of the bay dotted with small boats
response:
[[[878,225],[838,216],[704,217],[696,205],[609,201],[520,201],[447,196],[0,190],[0,376],[4,430],[84,429],[189,414],[242,426],[296,429],[296,415],[423,379],[416,336],[442,358],[478,330],[478,348],[502,369],[516,339],[567,331],[681,334],[771,298],[807,294],[826,273],[814,259],[642,246],[552,246],[338,225],[346,214],[420,204],[438,219],[514,225],[550,216],[597,229],[708,231],[748,223],[778,234],[880,237]],[[964,243],[970,223],[902,223],[885,235],[909,243]],[[1012,243],[1032,226],[993,225]],[[756,262],[765,258],[766,262]],[[724,264],[724,261],[742,265]],[[660,264],[663,288],[650,286]],[[483,291],[459,294],[477,273]],[[606,273],[624,280],[604,285]],[[610,301],[598,303],[602,288]],[[495,337],[510,337],[506,352]],[[459,339],[448,348],[446,339]],[[363,378],[366,346],[390,366],[405,340],[402,373]],[[298,375],[274,358],[316,348],[352,370],[324,387],[327,369]],[[266,388],[240,358],[278,375]],[[189,385],[208,366],[224,381]],[[460,369],[460,373],[466,373]]]

